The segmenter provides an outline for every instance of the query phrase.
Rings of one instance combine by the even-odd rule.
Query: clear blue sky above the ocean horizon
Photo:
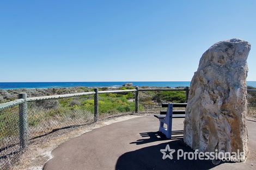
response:
[[[218,41],[251,43],[256,1],[0,1],[0,81],[190,81]]]

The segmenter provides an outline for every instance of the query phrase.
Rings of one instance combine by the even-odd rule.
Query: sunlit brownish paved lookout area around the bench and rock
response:
[[[73,138],[53,150],[53,159],[44,169],[256,169],[256,122],[247,121],[250,153],[246,163],[221,163],[200,160],[162,160],[160,149],[191,149],[182,139],[182,118],[173,122],[175,137],[167,140],[157,133],[158,120],[142,116],[95,129]],[[253,163],[253,166],[251,165]]]

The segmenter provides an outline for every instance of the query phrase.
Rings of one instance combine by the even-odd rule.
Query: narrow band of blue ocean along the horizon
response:
[[[154,87],[178,87],[190,86],[190,81],[107,81],[107,82],[11,82],[0,83],[0,89],[20,88],[58,88],[58,87],[120,87],[125,83],[132,83],[133,86],[154,86]],[[256,81],[247,81],[248,86],[256,87]]]

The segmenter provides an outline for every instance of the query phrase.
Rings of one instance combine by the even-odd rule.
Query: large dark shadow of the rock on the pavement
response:
[[[160,149],[165,149],[167,144],[169,144],[170,149],[175,149],[172,160],[169,158],[162,159],[163,154]],[[178,160],[178,149],[183,149],[184,152],[194,152],[183,140],[173,140],[124,153],[118,158],[115,169],[210,169],[217,166],[211,160],[184,160],[183,158]]]

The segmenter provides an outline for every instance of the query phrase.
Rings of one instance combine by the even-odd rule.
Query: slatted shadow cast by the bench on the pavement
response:
[[[156,142],[156,141],[165,141],[170,140],[167,138],[164,134],[162,134],[160,131],[149,131],[145,133],[139,133],[141,135],[141,139],[131,142],[130,144],[145,144],[150,142]],[[183,138],[183,130],[173,130],[172,131],[172,140],[173,139],[182,139]]]

